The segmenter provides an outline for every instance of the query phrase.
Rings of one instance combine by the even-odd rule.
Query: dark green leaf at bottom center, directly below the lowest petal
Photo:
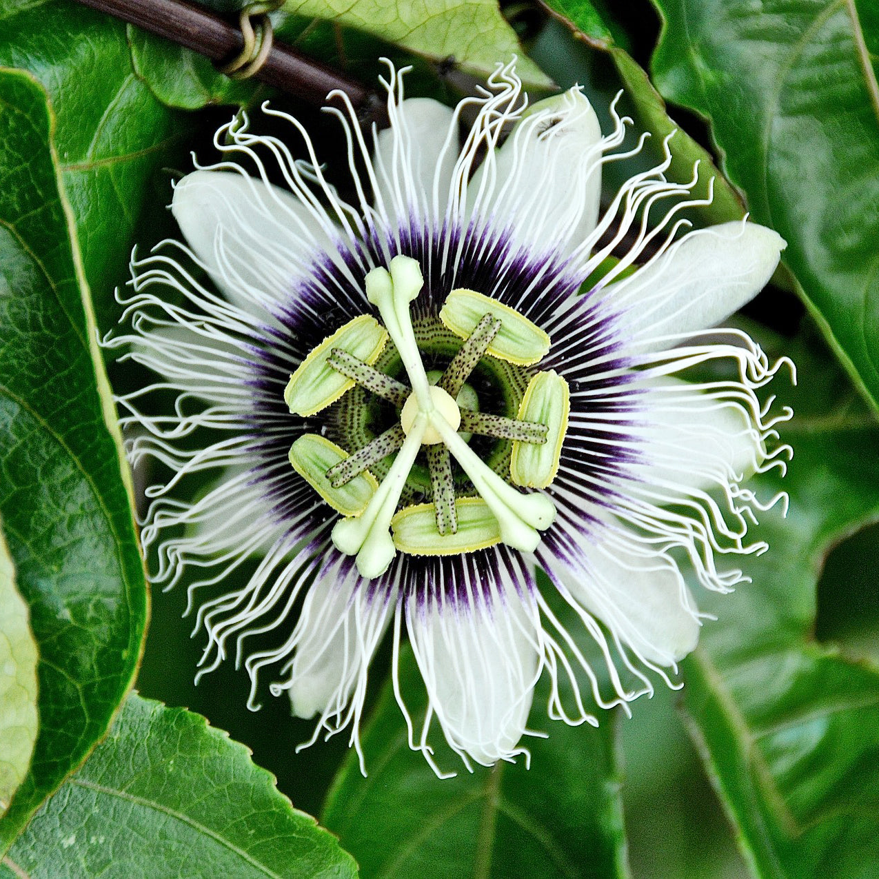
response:
[[[426,696],[408,647],[400,686],[419,729]],[[541,727],[545,699],[538,686],[534,713],[541,714]],[[628,875],[614,721],[604,720],[599,729],[549,723],[548,739],[527,741],[530,771],[519,758],[469,774],[438,742],[439,766],[458,770],[455,778],[439,780],[422,754],[410,750],[388,684],[362,735],[369,774],[360,774],[349,752],[323,823],[338,833],[365,879]]]

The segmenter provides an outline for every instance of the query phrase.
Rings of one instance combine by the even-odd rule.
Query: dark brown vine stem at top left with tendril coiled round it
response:
[[[184,0],[78,2],[193,49],[214,62],[229,61],[241,52],[244,45],[236,25]],[[374,91],[277,41],[253,78],[315,106],[323,106],[329,92],[338,89],[351,98],[363,123],[378,122],[381,125],[384,121],[384,105]]]

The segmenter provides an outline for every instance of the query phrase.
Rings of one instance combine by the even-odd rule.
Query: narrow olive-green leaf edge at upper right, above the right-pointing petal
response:
[[[694,164],[698,162],[699,180],[693,189],[695,199],[702,199],[708,195],[708,181],[714,178],[714,197],[711,204],[692,211],[691,215],[694,215],[701,225],[741,219],[745,215],[745,209],[738,193],[730,186],[723,174],[717,171],[710,153],[686,132],[680,130],[674,120],[669,118],[665,111],[665,101],[650,83],[647,74],[614,42],[611,31],[592,3],[589,0],[548,0],[546,5],[579,40],[583,40],[592,50],[607,54],[613,62],[619,77],[619,87],[624,90],[622,112],[632,116],[639,134],[642,131],[649,131],[653,135],[652,141],[645,150],[645,157],[649,159],[650,164],[656,164],[661,160],[662,141],[674,133],[670,142],[672,164],[666,171],[666,177],[679,182],[690,180],[693,177]],[[569,77],[572,84],[577,78],[577,75],[572,74],[571,71],[571,69],[576,70],[576,62],[571,64],[571,59],[568,58],[565,60],[565,67],[566,74],[561,71],[556,73],[553,66],[549,66],[548,70],[560,84],[569,84],[567,80],[563,81],[563,76]],[[614,84],[613,88],[617,86]],[[626,176],[632,173],[632,166],[632,163],[625,163],[623,170],[628,172]],[[644,167],[647,166],[644,164]],[[612,165],[606,166],[606,172],[612,178],[614,171],[616,169]]]

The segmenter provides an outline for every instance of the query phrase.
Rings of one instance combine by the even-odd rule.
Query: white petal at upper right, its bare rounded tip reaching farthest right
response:
[[[605,291],[624,310],[621,338],[637,351],[661,351],[716,326],[751,301],[772,277],[787,246],[772,229],[726,222],[697,229]]]

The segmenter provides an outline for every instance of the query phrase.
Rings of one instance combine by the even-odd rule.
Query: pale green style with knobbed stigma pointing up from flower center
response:
[[[389,268],[390,271],[374,268],[367,274],[367,299],[379,309],[381,320],[394,340],[412,392],[418,397],[419,409],[428,412],[433,403],[409,312],[409,303],[418,296],[425,280],[418,262],[411,257],[395,257]]]

